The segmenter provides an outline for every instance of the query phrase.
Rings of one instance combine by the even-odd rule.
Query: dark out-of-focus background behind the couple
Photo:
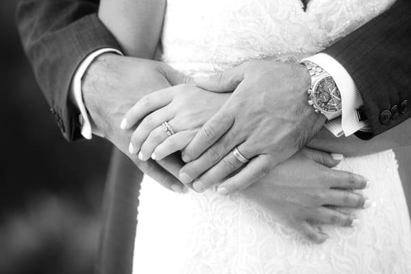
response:
[[[0,273],[92,273],[110,144],[64,140],[21,48],[15,6],[0,1]],[[411,197],[411,149],[397,152]]]

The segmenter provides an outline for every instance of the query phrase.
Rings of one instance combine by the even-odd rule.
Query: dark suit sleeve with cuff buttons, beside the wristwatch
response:
[[[364,101],[370,139],[411,116],[411,1],[383,14],[323,51],[340,62]]]

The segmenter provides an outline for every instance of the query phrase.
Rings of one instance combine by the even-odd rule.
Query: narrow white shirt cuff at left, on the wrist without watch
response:
[[[90,55],[88,55],[86,59],[84,59],[82,64],[80,64],[80,66],[78,67],[77,71],[74,74],[73,82],[71,82],[70,92],[71,92],[72,98],[74,98],[73,103],[77,105],[77,108],[80,111],[79,122],[81,125],[82,136],[88,140],[91,140],[92,134],[95,134],[101,137],[103,137],[104,135],[99,131],[99,129],[97,129],[97,127],[95,127],[94,123],[92,123],[92,121],[90,121],[90,119],[88,118],[88,113],[86,110],[86,106],[84,105],[83,95],[82,95],[82,78],[84,74],[86,73],[90,64],[95,60],[95,58],[107,52],[113,52],[119,55],[123,55],[121,51],[117,49],[112,49],[112,48],[99,49],[93,53],[90,53]]]

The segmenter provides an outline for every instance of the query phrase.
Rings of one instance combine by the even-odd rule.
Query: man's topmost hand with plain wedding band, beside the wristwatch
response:
[[[199,191],[240,169],[243,163],[230,153],[235,147],[251,161],[221,184],[222,194],[231,193],[229,185],[243,189],[257,182],[306,145],[325,123],[325,116],[308,104],[311,79],[302,64],[252,60],[194,81],[214,92],[234,90],[183,151],[189,163],[180,171],[182,182],[192,182],[205,171],[202,178],[211,178],[194,182]],[[220,173],[207,175],[214,170]]]

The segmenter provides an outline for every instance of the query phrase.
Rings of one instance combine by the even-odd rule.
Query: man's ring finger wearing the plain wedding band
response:
[[[203,192],[210,188],[210,186],[223,181],[225,177],[236,172],[243,165],[244,163],[240,162],[234,153],[230,152],[210,170],[201,175],[201,177],[192,184],[192,187],[198,192]]]

